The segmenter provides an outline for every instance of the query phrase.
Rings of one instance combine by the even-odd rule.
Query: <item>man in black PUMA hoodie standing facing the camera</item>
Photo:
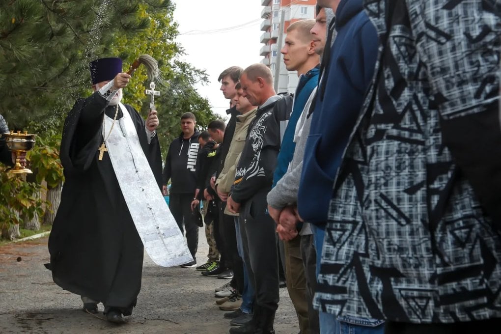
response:
[[[182,264],[183,268],[196,266],[198,247],[198,225],[196,216],[191,214],[191,201],[196,189],[196,160],[198,155],[199,132],[195,130],[195,115],[190,112],[181,116],[182,133],[169,146],[163,168],[163,192],[167,193],[167,182],[171,180],[169,208],[183,232],[186,230],[188,249],[193,261]]]

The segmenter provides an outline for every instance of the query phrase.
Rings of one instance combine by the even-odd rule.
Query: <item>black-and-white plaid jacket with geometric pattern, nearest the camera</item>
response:
[[[334,185],[315,306],[415,323],[501,317],[501,5],[364,6],[379,56]]]

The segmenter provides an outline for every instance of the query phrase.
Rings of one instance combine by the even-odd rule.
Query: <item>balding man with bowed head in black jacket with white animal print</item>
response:
[[[280,150],[281,124],[289,118],[292,97],[277,95],[272,72],[263,64],[247,67],[240,76],[242,96],[259,106],[236,166],[235,181],[227,200],[230,212],[240,213],[240,233],[248,274],[256,301],[252,319],[230,333],[274,333],[279,301],[277,239],[273,219],[267,214],[266,195]]]

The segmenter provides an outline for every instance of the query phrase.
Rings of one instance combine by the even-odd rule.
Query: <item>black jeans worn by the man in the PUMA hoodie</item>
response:
[[[196,250],[198,248],[198,225],[196,216],[191,212],[191,201],[193,194],[170,194],[169,208],[177,222],[177,226],[183,233],[186,230],[186,243],[188,249],[196,261]],[[184,226],[184,229],[183,229]]]

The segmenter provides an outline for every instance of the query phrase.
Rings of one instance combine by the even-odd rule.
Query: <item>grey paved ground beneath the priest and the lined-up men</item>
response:
[[[197,261],[205,263],[205,234],[199,231]],[[111,324],[102,313],[83,312],[80,297],[54,284],[44,267],[49,262],[47,241],[45,237],[0,246],[0,333],[228,333],[229,320],[214,302],[214,288],[226,280],[194,269],[159,267],[146,254],[138,304],[125,324]],[[297,334],[287,289],[280,289],[280,298],[275,330]],[[103,305],[99,307],[102,311]]]

